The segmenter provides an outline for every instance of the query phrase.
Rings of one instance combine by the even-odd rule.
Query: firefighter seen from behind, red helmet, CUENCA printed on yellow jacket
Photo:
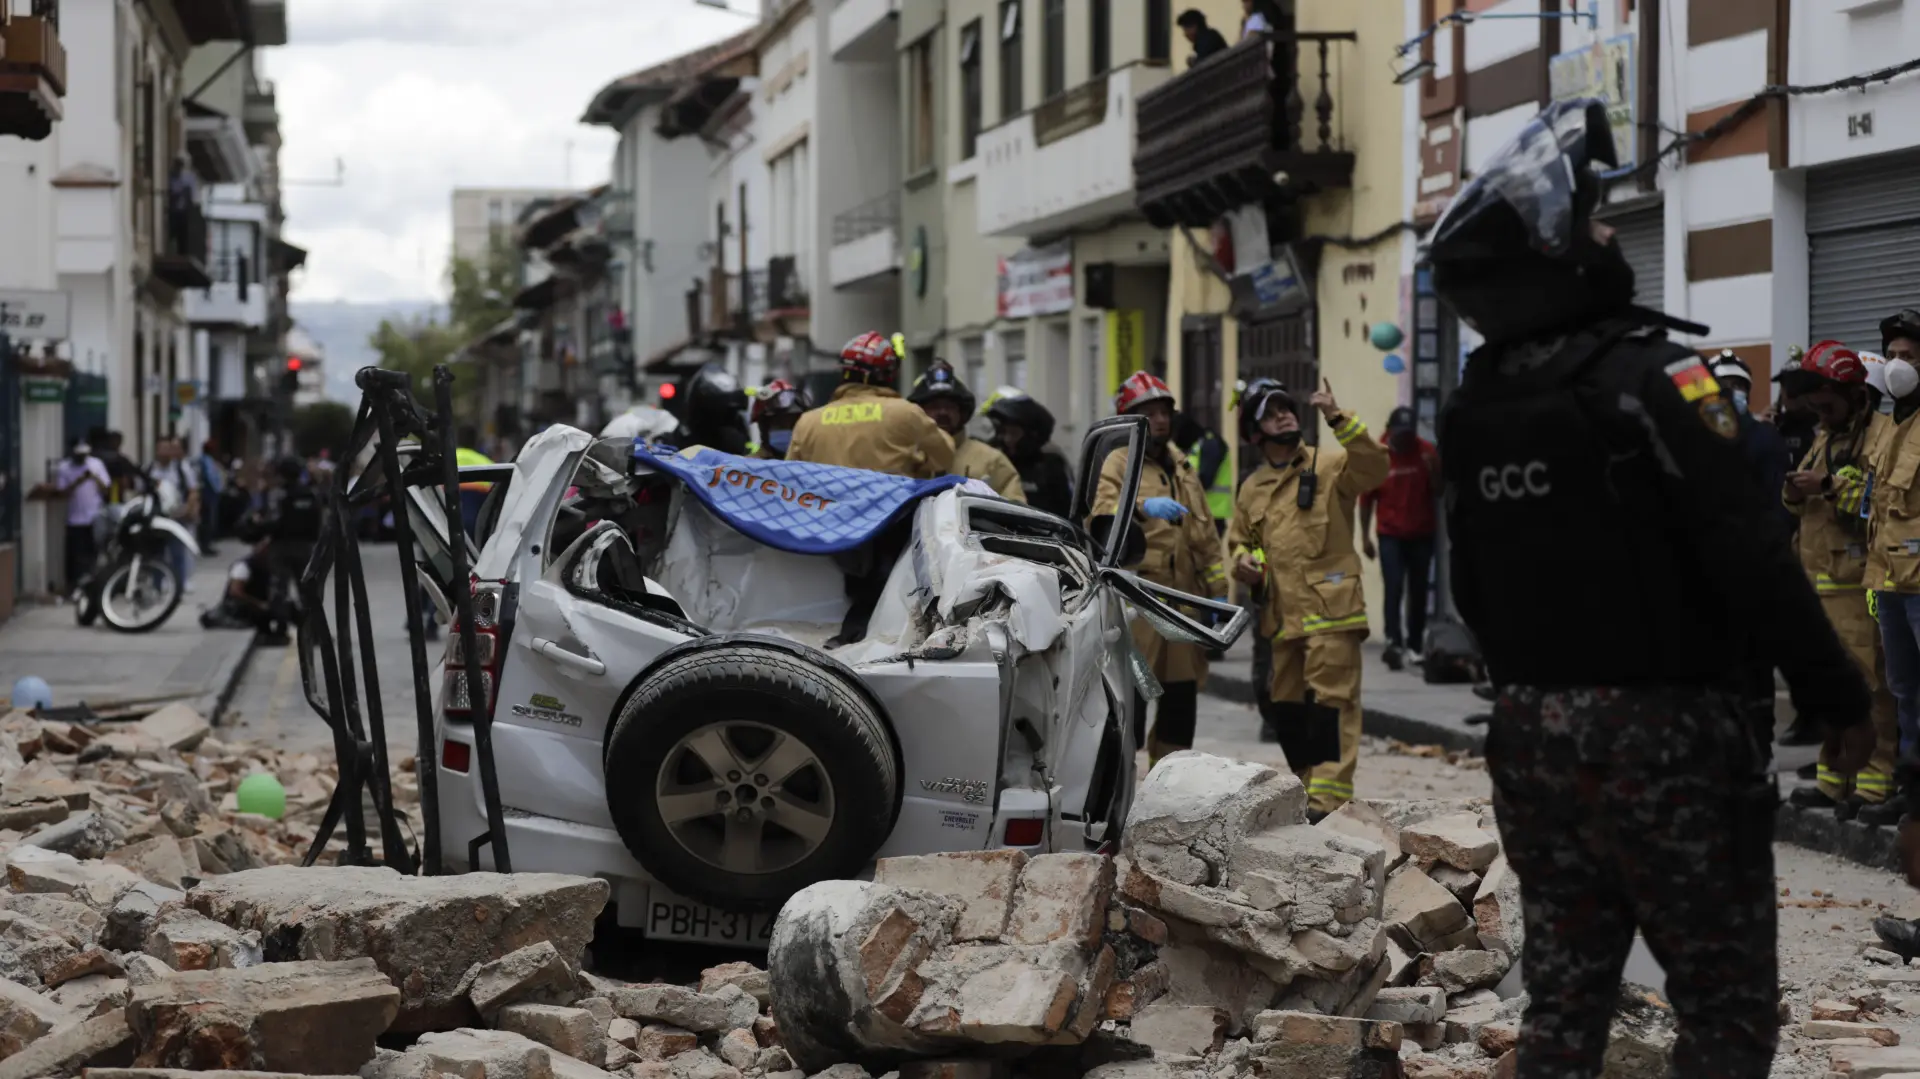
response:
[[[841,349],[841,384],[833,399],[793,424],[787,461],[893,472],[914,480],[945,476],[954,444],[920,407],[893,390],[904,342],[876,332]]]

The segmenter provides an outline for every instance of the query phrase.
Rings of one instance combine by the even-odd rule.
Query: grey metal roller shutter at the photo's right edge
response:
[[[1920,307],[1920,156],[1807,173],[1812,340],[1878,349],[1880,321]]]

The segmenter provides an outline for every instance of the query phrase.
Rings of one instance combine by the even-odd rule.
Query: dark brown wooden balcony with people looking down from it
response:
[[[1140,98],[1135,202],[1162,228],[1206,227],[1277,186],[1354,182],[1342,123],[1357,35],[1256,35]]]

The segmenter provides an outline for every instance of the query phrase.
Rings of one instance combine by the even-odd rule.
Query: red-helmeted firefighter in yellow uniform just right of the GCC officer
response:
[[[1866,768],[1847,774],[1830,766],[1826,747],[1814,787],[1799,787],[1788,799],[1803,808],[1843,808],[1866,824],[1899,822],[1903,804],[1893,795],[1893,766],[1899,756],[1899,722],[1893,695],[1885,685],[1880,626],[1866,603],[1866,518],[1860,499],[1866,467],[1893,434],[1891,417],[1880,415],[1866,382],[1860,357],[1837,344],[1820,342],[1780,372],[1780,388],[1801,407],[1820,417],[1820,432],[1807,459],[1788,474],[1782,501],[1799,516],[1799,557],[1820,593],[1820,607],[1874,687],[1874,756]]]

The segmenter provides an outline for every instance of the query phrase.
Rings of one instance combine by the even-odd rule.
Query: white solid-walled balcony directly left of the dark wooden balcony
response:
[[[1035,236],[1133,209],[1135,106],[1169,77],[1129,63],[983,131],[981,234]]]

